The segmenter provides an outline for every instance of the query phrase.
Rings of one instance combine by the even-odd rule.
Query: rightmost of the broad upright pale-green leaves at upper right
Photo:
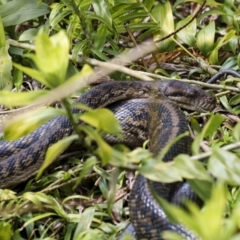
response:
[[[197,46],[205,56],[213,50],[214,38],[215,22],[212,21],[197,34]]]

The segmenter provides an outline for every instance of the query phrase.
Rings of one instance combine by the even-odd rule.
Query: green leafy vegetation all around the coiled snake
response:
[[[0,190],[0,239],[115,239],[129,217],[126,196],[133,173],[127,169],[163,182],[188,179],[205,205],[189,203],[186,212],[163,203],[171,220],[181,219],[204,240],[240,238],[239,79],[205,83],[220,69],[240,68],[240,4],[207,0],[201,9],[203,2],[0,0],[0,104],[14,112],[61,100],[66,109],[15,116],[3,137],[20,138],[59,114],[76,130],[49,148],[36,178],[15,192]],[[150,38],[155,44],[148,53],[158,51],[134,58],[137,51],[130,49]],[[129,50],[134,62],[126,67],[106,64]],[[144,148],[109,146],[104,133],[120,132],[110,111],[80,106],[89,110],[80,116],[89,126],[77,127],[70,108],[96,81],[91,75],[96,66],[108,66],[117,80],[197,81],[228,113],[189,113],[193,156],[179,155],[171,163],[153,159]],[[61,165],[43,172],[78,138],[86,151],[64,154]]]

